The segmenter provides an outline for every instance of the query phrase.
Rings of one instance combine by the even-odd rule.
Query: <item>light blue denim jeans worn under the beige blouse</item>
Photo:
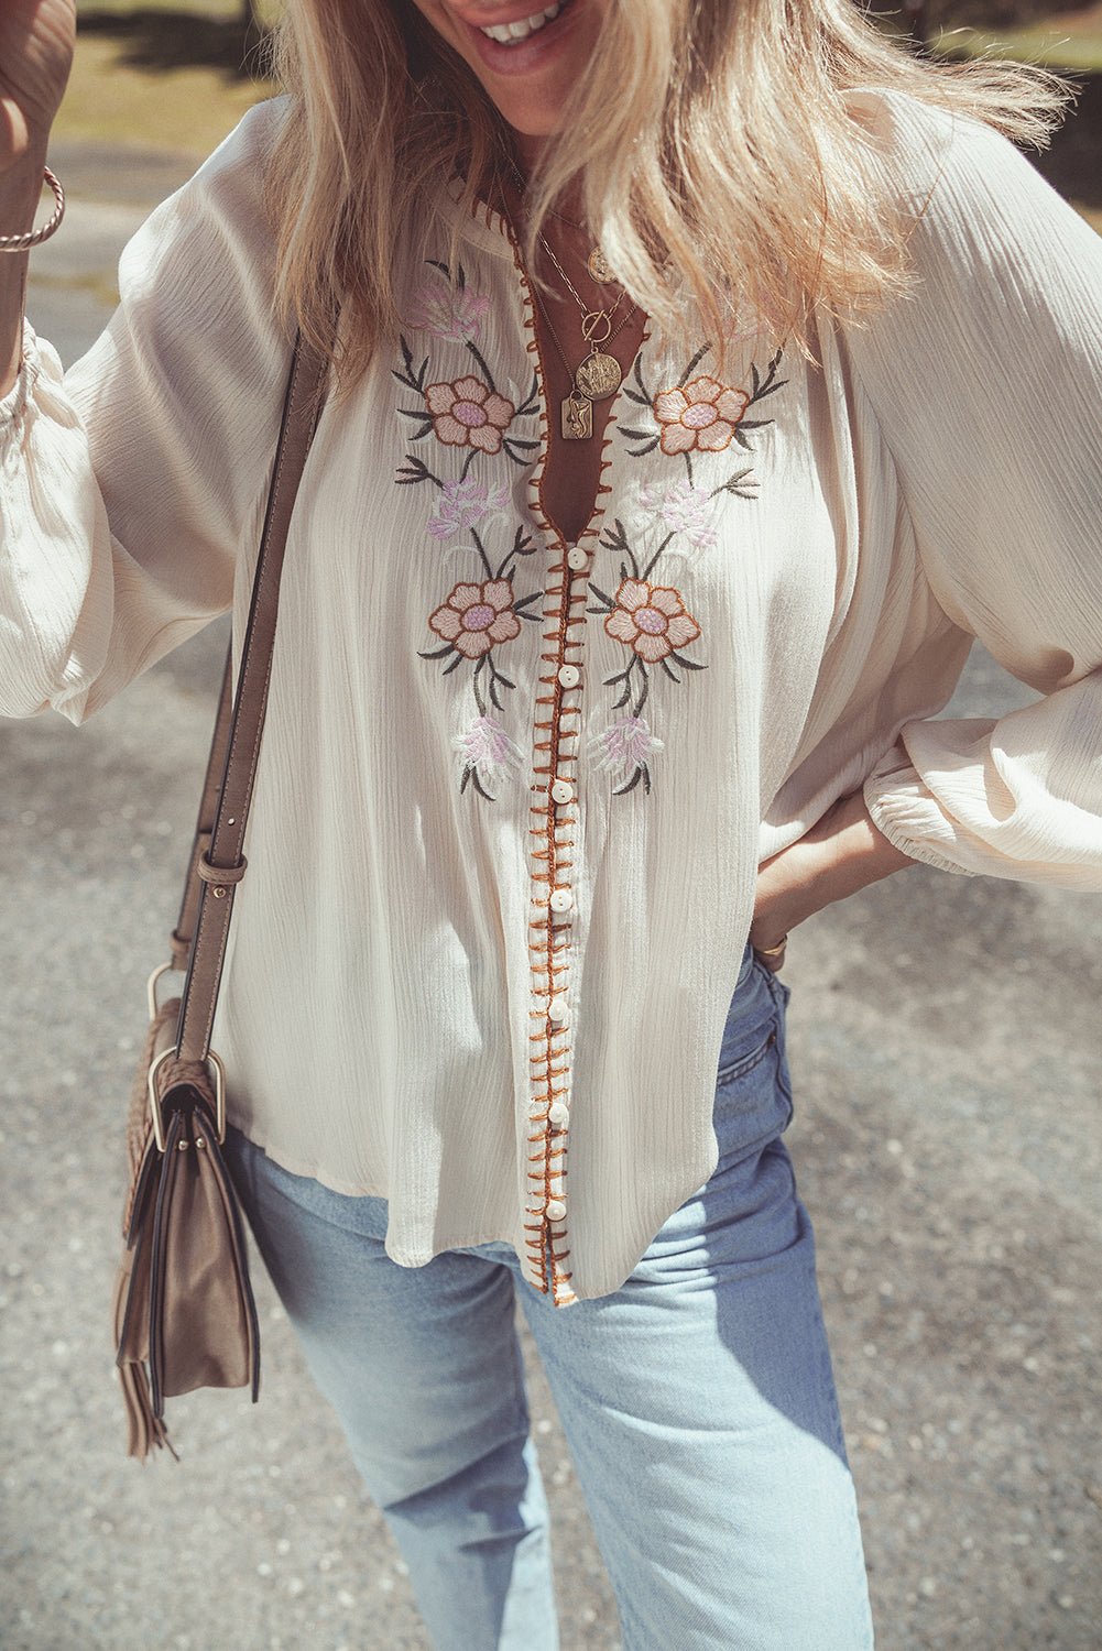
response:
[[[436,1651],[558,1646],[517,1298],[625,1651],[872,1644],[811,1227],[780,1141],[785,1001],[747,954],[715,1090],[719,1167],[621,1289],[572,1308],[532,1289],[506,1243],[398,1266],[383,1199],[291,1176],[231,1133],[261,1253]]]

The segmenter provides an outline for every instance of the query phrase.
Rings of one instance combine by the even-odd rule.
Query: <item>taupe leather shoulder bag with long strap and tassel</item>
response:
[[[317,428],[327,360],[296,342],[276,449],[236,697],[226,659],[198,826],[172,934],[149,982],[150,1024],[127,1123],[131,1187],[114,1293],[114,1337],[129,1455],[169,1445],[165,1398],[197,1387],[259,1392],[259,1331],[245,1228],[221,1156],[226,1095],[210,1047],[233,892],[268,703],[287,528]],[[157,1005],[162,974],[185,969]],[[175,1455],[175,1451],[173,1451]]]

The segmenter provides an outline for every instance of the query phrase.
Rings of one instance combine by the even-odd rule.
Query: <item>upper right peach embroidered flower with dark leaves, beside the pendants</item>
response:
[[[768,418],[748,419],[747,413],[786,383],[777,376],[781,360],[780,350],[765,370],[765,378],[757,367],[750,368],[750,390],[720,385],[717,378],[707,375],[694,378],[692,375],[709,350],[707,343],[697,350],[671,390],[651,395],[643,381],[641,357],[636,358],[633,381],[626,381],[623,386],[625,396],[638,408],[646,408],[658,426],[658,429],[620,428],[620,434],[636,444],[629,449],[631,457],[641,459],[644,454],[654,452],[656,447],[661,447],[669,457],[681,456],[686,461],[689,487],[692,487],[694,454],[725,452],[732,442],[747,452],[752,451],[747,433],[765,429],[773,421]],[[715,497],[717,492],[730,492],[742,499],[752,499],[755,497],[753,487],[752,471],[743,469],[714,489],[709,497]]]

